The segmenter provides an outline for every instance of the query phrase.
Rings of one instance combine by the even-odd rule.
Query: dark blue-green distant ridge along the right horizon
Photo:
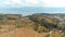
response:
[[[40,15],[40,16],[60,16],[64,17],[65,13],[35,13],[32,15]]]

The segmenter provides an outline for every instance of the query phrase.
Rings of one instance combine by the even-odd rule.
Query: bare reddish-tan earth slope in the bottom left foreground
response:
[[[0,34],[0,37],[44,37],[47,33],[39,34],[32,29],[23,27],[9,33]]]

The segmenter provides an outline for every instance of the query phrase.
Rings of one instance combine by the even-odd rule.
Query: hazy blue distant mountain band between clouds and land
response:
[[[65,12],[64,10],[65,8],[42,8],[42,7],[23,7],[23,8],[3,8],[3,9],[0,9],[0,13],[26,13],[29,14],[28,12],[34,12],[34,13],[56,13],[56,12]],[[24,14],[25,14],[24,13]]]

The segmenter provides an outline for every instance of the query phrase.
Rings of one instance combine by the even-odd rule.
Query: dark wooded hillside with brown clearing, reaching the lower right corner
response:
[[[63,33],[65,33],[65,24],[60,22],[58,18],[48,17],[48,16],[40,16],[40,15],[30,15],[28,16],[31,22],[34,22],[34,29],[38,33],[42,32],[51,32],[53,30],[51,36],[53,37],[65,37]],[[61,32],[60,32],[61,30]],[[62,35],[63,34],[63,35]]]

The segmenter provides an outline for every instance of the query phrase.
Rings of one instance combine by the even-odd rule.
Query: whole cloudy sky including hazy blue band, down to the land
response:
[[[0,13],[31,14],[47,11],[65,13],[65,0],[0,0]]]

